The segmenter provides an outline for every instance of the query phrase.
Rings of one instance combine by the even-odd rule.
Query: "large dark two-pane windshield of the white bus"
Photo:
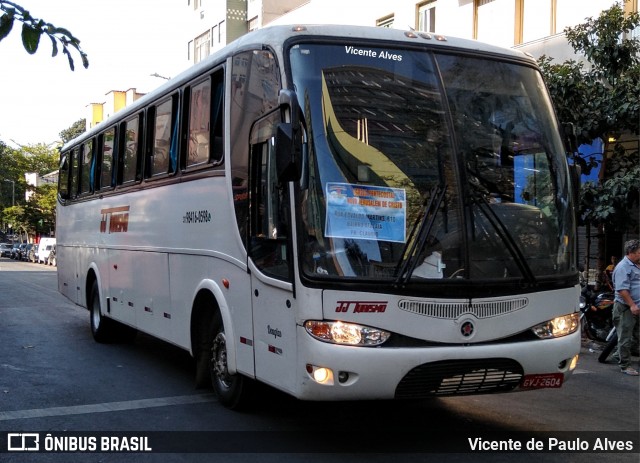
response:
[[[296,44],[302,269],[409,282],[575,271],[564,149],[540,74],[478,55]]]

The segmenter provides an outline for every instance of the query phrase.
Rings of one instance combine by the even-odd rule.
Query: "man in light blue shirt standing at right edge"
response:
[[[613,323],[618,333],[618,364],[622,373],[638,376],[638,371],[630,366],[631,345],[634,333],[638,331],[640,314],[640,240],[624,243],[624,258],[613,270],[615,303]],[[636,334],[637,336],[637,334]]]

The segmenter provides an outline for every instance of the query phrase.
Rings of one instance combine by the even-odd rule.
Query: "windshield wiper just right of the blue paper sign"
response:
[[[394,276],[396,276],[394,286],[405,285],[411,279],[413,271],[418,266],[422,248],[431,233],[431,229],[438,215],[438,209],[440,209],[440,204],[442,204],[446,191],[445,185],[436,185],[431,189],[429,202],[425,204],[422,215],[420,215],[413,224],[411,233],[409,233],[409,237],[407,238],[407,244],[405,244],[402,250],[400,261],[393,273]],[[427,203],[426,198],[425,203]],[[413,239],[414,235],[415,239]]]

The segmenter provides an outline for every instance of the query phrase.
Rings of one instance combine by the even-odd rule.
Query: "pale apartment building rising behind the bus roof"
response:
[[[415,29],[518,47],[564,61],[563,31],[613,0],[187,0],[187,61],[197,63],[240,35],[276,24],[352,24]],[[625,3],[638,11],[638,0]]]

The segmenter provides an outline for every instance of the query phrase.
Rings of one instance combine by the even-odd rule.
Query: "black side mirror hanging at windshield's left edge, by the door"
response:
[[[280,183],[295,182],[302,173],[302,134],[298,117],[298,98],[294,91],[280,90],[278,97],[282,122],[276,131],[276,170]]]

